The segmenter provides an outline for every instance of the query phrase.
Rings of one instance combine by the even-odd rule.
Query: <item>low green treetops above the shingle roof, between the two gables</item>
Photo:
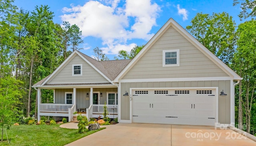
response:
[[[125,50],[120,50],[118,52],[118,57],[120,57],[121,59],[132,59],[134,58],[139,52],[140,50],[144,47],[145,45],[141,45],[141,46],[134,46],[132,48],[132,50],[130,51],[130,54],[128,54],[127,51]],[[116,58],[118,59],[118,58]]]

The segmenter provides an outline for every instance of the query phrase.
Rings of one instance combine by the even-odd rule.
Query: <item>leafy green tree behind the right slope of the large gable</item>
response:
[[[226,12],[209,14],[197,13],[186,29],[208,50],[225,64],[233,58],[235,51],[235,22]]]

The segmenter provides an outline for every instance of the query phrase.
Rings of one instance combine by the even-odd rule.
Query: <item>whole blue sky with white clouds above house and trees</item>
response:
[[[119,50],[129,52],[146,44],[169,18],[186,28],[196,13],[227,12],[236,25],[241,23],[240,6],[233,6],[233,0],[15,0],[14,4],[29,11],[48,5],[54,23],[68,21],[82,30],[81,52],[93,57],[93,49],[99,47],[110,60]]]

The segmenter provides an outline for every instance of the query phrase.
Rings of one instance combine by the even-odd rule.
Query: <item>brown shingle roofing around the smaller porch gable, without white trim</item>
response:
[[[116,76],[127,66],[127,64],[131,60],[107,60],[107,61],[97,61],[82,52],[77,51],[80,53],[86,60],[88,60],[92,65],[94,65],[100,72],[102,72],[105,76],[107,76],[110,80],[114,80]],[[50,75],[49,75],[50,76]],[[33,86],[40,86],[42,83],[49,77],[45,77],[44,79],[40,80]],[[104,83],[105,84],[105,83]],[[54,84],[45,84],[44,86],[49,86]],[[58,85],[78,85],[76,83],[74,84],[58,84]],[[57,84],[56,84],[57,86]]]

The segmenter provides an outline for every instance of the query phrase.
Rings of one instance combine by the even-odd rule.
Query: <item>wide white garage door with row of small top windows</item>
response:
[[[132,122],[214,126],[215,89],[132,90]]]

